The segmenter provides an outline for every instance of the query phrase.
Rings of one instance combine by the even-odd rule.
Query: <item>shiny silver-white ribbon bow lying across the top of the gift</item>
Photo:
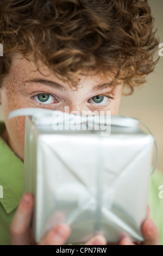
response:
[[[110,111],[111,112],[111,111]],[[121,127],[133,127],[136,128],[139,125],[139,120],[131,117],[124,117],[118,115],[111,116],[111,122],[109,115],[79,115],[79,114],[69,114],[67,112],[62,111],[54,111],[47,109],[38,109],[38,108],[24,108],[17,109],[11,111],[9,113],[8,118],[14,118],[17,116],[33,116],[33,122],[39,125],[48,125],[52,124],[55,121],[58,123],[64,122],[65,124],[69,124],[72,121],[75,121],[76,124],[81,123],[89,123],[93,122],[95,124],[99,124],[99,122],[103,125],[112,125],[112,126],[121,126]]]

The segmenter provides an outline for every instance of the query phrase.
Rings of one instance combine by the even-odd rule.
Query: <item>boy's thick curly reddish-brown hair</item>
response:
[[[0,0],[0,83],[12,53],[32,54],[73,87],[83,70],[134,87],[153,72],[158,39],[147,0]]]

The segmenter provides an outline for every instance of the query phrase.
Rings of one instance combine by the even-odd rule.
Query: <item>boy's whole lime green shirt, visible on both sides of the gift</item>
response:
[[[0,134],[4,129],[4,123],[0,122]],[[23,194],[23,162],[1,136],[0,166],[0,245],[10,245],[10,223]],[[148,203],[152,219],[159,227],[161,245],[163,245],[163,198],[159,198],[160,185],[163,185],[163,176],[159,171],[155,171],[151,176]],[[1,198],[2,187],[3,198]]]

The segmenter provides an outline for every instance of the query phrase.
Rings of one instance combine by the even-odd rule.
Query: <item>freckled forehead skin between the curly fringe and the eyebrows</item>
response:
[[[61,84],[66,88],[70,87],[66,82],[59,79],[44,63],[41,61],[38,61],[37,63],[39,64],[39,70],[37,70],[32,57],[24,57],[23,55],[16,53],[12,58],[11,64],[10,74],[12,75],[12,79],[14,78],[15,81],[22,82],[24,85],[26,85],[26,81],[42,79],[58,82],[58,84]],[[77,81],[80,86],[83,86],[85,82],[93,87],[100,84],[111,86],[112,77],[104,75],[103,73],[97,74],[96,71],[89,72],[88,75],[86,75],[86,72],[83,72],[78,75]],[[119,84],[121,84],[121,82],[119,82]]]

